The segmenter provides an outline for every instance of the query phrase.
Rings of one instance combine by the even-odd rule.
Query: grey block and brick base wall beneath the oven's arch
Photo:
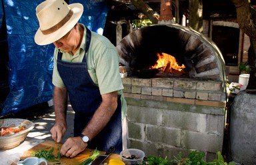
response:
[[[129,118],[129,148],[146,156],[191,150],[211,161],[222,150],[226,94],[220,81],[123,78]]]

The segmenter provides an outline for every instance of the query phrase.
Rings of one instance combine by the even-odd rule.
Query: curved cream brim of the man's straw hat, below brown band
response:
[[[80,3],[73,3],[69,5],[69,7],[73,10],[73,15],[69,19],[69,21],[67,21],[67,23],[65,23],[65,25],[63,25],[57,31],[49,35],[43,35],[40,28],[37,30],[34,38],[37,45],[48,45],[50,43],[53,43],[61,39],[61,37],[66,35],[75,26],[75,24],[79,21],[81,15],[83,14],[83,5],[81,5]]]

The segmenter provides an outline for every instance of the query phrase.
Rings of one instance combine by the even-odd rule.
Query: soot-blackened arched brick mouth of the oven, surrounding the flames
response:
[[[203,34],[178,24],[156,24],[137,29],[117,44],[117,51],[128,76],[159,75],[147,69],[157,61],[157,53],[167,53],[185,65],[188,78],[225,82],[225,62],[215,43]],[[145,76],[147,72],[152,75]]]

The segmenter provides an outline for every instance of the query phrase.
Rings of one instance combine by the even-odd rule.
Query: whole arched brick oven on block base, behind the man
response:
[[[117,50],[128,73],[129,148],[167,159],[199,150],[213,160],[222,151],[227,101],[225,63],[215,43],[187,27],[158,24],[129,33]],[[157,53],[175,57],[187,74],[134,74],[152,66]]]

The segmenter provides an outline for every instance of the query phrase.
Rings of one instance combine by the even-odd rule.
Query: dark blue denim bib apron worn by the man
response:
[[[86,30],[85,55],[91,43],[91,31]],[[99,87],[93,83],[87,72],[86,58],[82,63],[70,63],[61,61],[62,53],[58,53],[57,69],[65,84],[71,106],[75,111],[74,136],[81,132],[91,120],[95,110],[102,102]],[[121,124],[121,100],[118,97],[117,110],[111,117],[107,126],[88,144],[88,148],[107,151],[110,146],[115,146],[115,153],[122,150],[122,124]]]

